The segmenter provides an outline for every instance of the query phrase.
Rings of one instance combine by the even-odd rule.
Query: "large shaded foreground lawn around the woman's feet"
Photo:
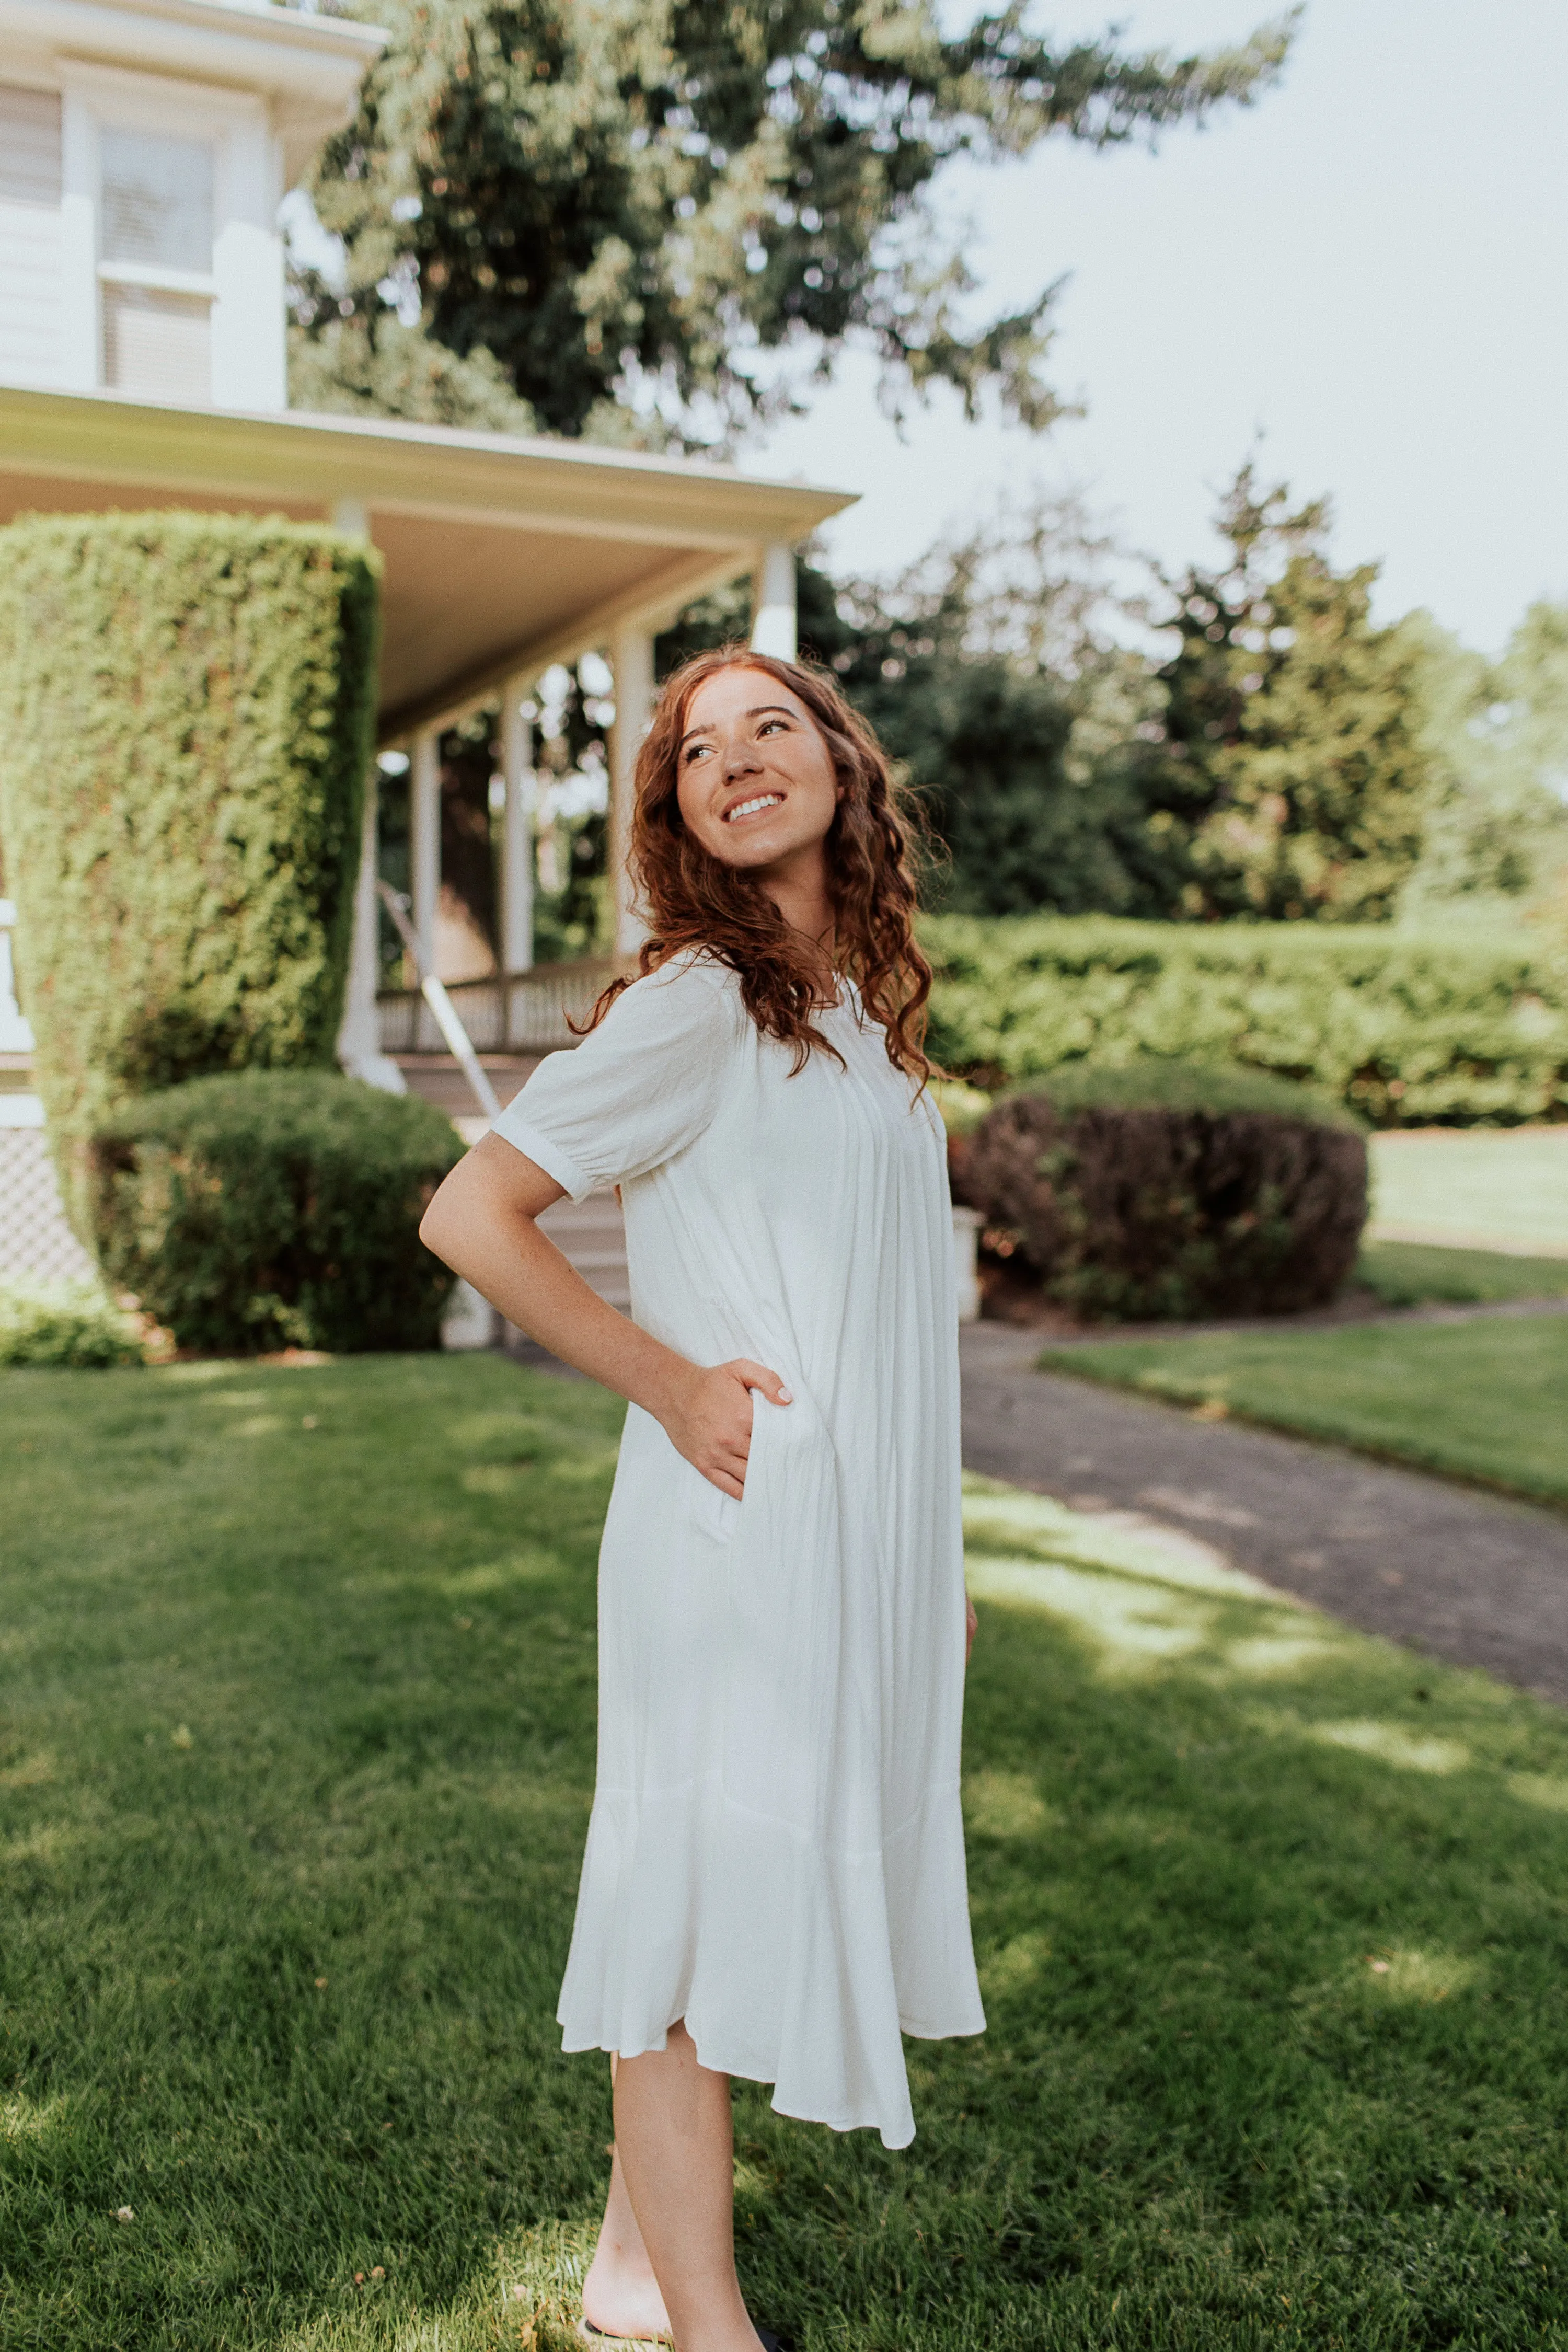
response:
[[[0,1381],[0,2345],[567,2352],[618,1406],[494,1357]],[[903,2154],[738,2089],[755,2307],[1568,2345],[1568,1719],[1187,1538],[980,1482],[969,1529],[990,2032],[910,2046]]]

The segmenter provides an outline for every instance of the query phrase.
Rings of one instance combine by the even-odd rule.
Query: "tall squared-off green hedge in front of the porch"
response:
[[[315,524],[0,529],[0,842],[66,1202],[129,1096],[329,1065],[374,743],[378,560]]]

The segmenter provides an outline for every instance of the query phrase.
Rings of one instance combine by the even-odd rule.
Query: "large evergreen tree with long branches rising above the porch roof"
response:
[[[980,329],[929,212],[954,155],[1204,120],[1279,73],[1291,16],[1171,59],[1065,49],[1009,0],[945,38],[931,0],[353,0],[393,33],[313,198],[343,278],[296,285],[296,397],[447,414],[501,383],[548,433],[722,440],[870,341],[893,395],[994,386],[1030,426],[1048,292]],[[423,334],[444,358],[411,360]],[[498,379],[487,374],[491,355]],[[458,367],[449,365],[451,360]],[[463,365],[480,362],[468,379]],[[656,414],[651,414],[656,412]]]

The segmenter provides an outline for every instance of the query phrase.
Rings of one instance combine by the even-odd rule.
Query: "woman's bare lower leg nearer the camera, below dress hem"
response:
[[[616,2152],[677,2352],[757,2352],[736,2279],[729,2077],[698,2065],[684,2023],[616,2067]]]

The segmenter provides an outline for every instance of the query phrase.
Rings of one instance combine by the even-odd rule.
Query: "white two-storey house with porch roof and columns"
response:
[[[292,412],[277,207],[350,118],[383,42],[268,0],[0,0],[0,522],[181,506],[369,534],[386,567],[381,748],[411,757],[421,936],[440,889],[435,743],[498,701],[501,934],[520,976],[534,680],[590,649],[616,673],[614,854],[654,630],[750,569],[752,642],[792,654],[790,548],[851,496],[571,442]],[[374,880],[371,795],[341,1054],[397,1084],[376,1028]],[[7,889],[26,891],[26,877]],[[632,936],[621,903],[621,946]],[[5,995],[0,1089],[7,1061],[14,1080],[24,1058],[7,1054],[21,1033]],[[0,1127],[7,1112],[12,1127],[33,1117],[24,1103],[0,1091]],[[0,1272],[2,1225],[0,1197]]]

